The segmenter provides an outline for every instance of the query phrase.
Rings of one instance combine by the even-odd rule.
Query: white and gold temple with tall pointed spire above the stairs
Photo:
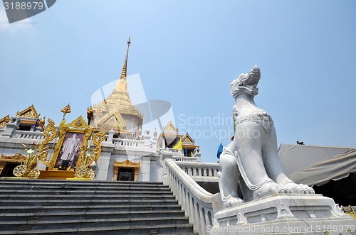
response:
[[[70,106],[62,109],[64,121],[53,127],[58,133],[53,136],[53,140],[48,141],[47,159],[38,160],[39,178],[75,177],[75,170],[78,170],[75,164],[80,162],[80,146],[87,146],[87,152],[93,150],[93,138],[95,133],[100,132],[105,134],[100,145],[100,155],[90,166],[95,174],[94,180],[157,182],[164,180],[164,162],[167,159],[201,161],[199,146],[189,133],[184,136],[179,134],[172,121],[169,121],[162,133],[157,133],[156,129],[142,130],[144,116],[132,104],[127,91],[130,43],[129,38],[125,62],[115,89],[103,101],[87,109],[88,121],[80,116],[66,125],[64,116],[70,112]],[[1,177],[14,176],[12,170],[21,162],[18,153],[25,155],[22,144],[29,147],[33,143],[46,141],[43,136],[46,133],[45,117],[41,119],[40,115],[35,106],[31,105],[18,111],[16,116],[10,118],[6,115],[0,119]],[[182,143],[180,148],[174,148],[179,141]]]

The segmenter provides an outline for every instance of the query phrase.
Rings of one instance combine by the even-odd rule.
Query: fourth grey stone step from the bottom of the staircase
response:
[[[70,205],[66,204],[66,206],[61,205],[48,205],[48,204],[41,204],[41,205],[23,205],[21,207],[17,205],[9,205],[9,206],[0,206],[0,217],[2,213],[11,213],[16,210],[16,213],[31,213],[31,212],[37,212],[41,210],[46,210],[46,212],[67,212],[67,213],[72,213],[72,212],[108,212],[111,213],[112,211],[117,211],[117,210],[124,210],[127,212],[137,212],[137,211],[169,211],[169,210],[174,210],[178,211],[181,209],[181,206],[178,204],[171,204],[171,205],[166,205],[166,204],[123,204],[123,205],[97,205],[97,204],[92,204],[90,207],[88,205]]]

